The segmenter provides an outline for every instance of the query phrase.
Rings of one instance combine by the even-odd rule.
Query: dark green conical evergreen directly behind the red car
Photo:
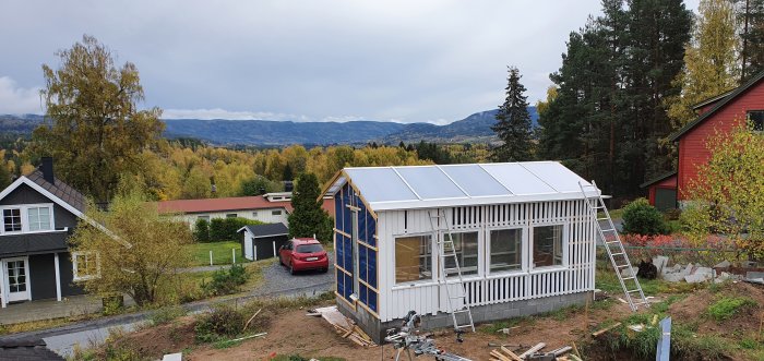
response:
[[[322,206],[319,180],[313,173],[302,173],[291,196],[295,210],[289,215],[289,237],[313,237],[321,242],[332,240],[332,221]]]

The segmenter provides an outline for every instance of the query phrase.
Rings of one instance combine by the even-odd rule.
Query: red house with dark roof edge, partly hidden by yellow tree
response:
[[[764,131],[764,72],[730,92],[720,94],[695,106],[697,119],[688,123],[669,137],[679,142],[677,170],[642,184],[648,189],[649,202],[659,209],[677,207],[687,198],[684,190],[697,177],[697,166],[711,158],[706,148],[709,136],[716,132],[729,132],[742,121],[752,124],[754,131]]]

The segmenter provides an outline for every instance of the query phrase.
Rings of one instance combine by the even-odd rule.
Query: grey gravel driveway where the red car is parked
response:
[[[290,275],[287,267],[275,262],[263,269],[263,285],[252,291],[253,296],[315,296],[334,289],[334,252],[329,253],[329,272],[300,272]]]

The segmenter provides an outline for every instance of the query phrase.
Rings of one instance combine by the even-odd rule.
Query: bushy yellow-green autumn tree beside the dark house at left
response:
[[[108,212],[93,204],[87,209],[94,222],[81,222],[69,239],[73,253],[97,260],[99,277],[85,280],[85,290],[127,293],[139,305],[177,301],[175,280],[191,260],[188,225],[159,216],[156,205],[138,192],[116,195]]]

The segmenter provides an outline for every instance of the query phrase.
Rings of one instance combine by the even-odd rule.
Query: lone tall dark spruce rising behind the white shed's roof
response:
[[[499,106],[497,123],[491,130],[497,133],[502,144],[496,147],[491,157],[494,161],[523,161],[532,157],[530,115],[525,86],[520,83],[520,71],[510,67],[506,85],[506,98]]]

